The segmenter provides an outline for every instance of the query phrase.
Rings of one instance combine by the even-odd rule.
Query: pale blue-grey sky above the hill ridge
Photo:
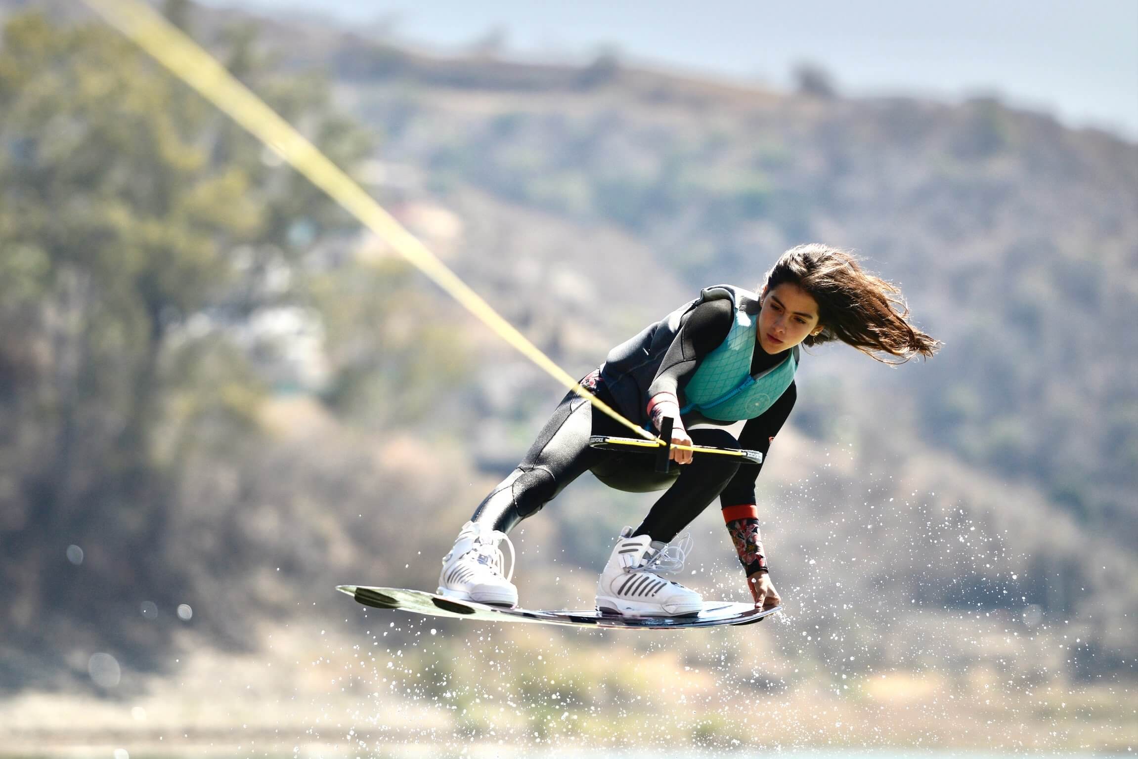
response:
[[[790,86],[803,61],[850,96],[998,94],[1138,140],[1138,0],[206,0],[307,13],[455,52],[493,30],[504,55],[601,49],[675,71]]]

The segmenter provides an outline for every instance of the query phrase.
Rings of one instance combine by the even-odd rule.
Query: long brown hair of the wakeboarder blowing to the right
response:
[[[841,340],[883,363],[905,363],[916,355],[932,356],[940,346],[909,323],[909,307],[896,284],[861,270],[847,250],[811,242],[784,253],[767,272],[764,287],[798,284],[818,303],[822,331],[803,345]],[[900,361],[887,361],[881,353]]]

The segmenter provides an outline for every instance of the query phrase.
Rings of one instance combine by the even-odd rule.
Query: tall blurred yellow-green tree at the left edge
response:
[[[191,25],[184,3],[170,8]],[[329,115],[325,85],[271,74],[255,41],[251,27],[230,30],[230,69],[340,165],[363,156],[368,141]],[[185,462],[254,439],[262,387],[225,328],[303,299],[294,273],[345,222],[116,32],[7,22],[0,646],[24,655],[0,657],[2,687],[50,680],[69,651],[160,661],[162,620],[178,622],[145,620],[139,604],[173,610],[200,570],[164,561]],[[83,548],[80,566],[68,544]]]

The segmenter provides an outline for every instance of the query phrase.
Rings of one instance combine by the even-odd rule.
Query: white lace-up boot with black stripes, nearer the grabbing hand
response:
[[[679,571],[691,550],[691,537],[679,545],[653,542],[648,535],[629,537],[620,530],[609,563],[596,584],[596,609],[602,614],[625,617],[679,617],[703,609],[703,599],[679,583],[666,580],[661,571]]]

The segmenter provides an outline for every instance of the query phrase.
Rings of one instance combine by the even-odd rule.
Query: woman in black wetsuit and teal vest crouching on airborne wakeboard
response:
[[[932,356],[939,343],[915,328],[893,284],[825,245],[787,250],[752,292],[709,287],[694,300],[613,348],[582,381],[627,419],[660,432],[673,420],[676,445],[749,448],[764,455],[794,405],[800,345],[840,340],[884,361]],[[744,421],[736,438],[723,427]],[[698,429],[691,429],[699,424]],[[668,545],[717,496],[748,587],[759,608],[778,605],[759,533],[754,482],[761,464],[671,448],[666,472],[651,456],[589,445],[622,427],[569,393],[520,464],[475,510],[443,559],[438,593],[463,601],[517,605],[500,544],[585,471],[610,487],[666,490],[636,529],[621,530],[601,574],[596,608],[627,617],[699,612],[695,591],[660,575],[690,550]],[[512,545],[511,554],[512,554]],[[511,558],[512,559],[512,558]]]

